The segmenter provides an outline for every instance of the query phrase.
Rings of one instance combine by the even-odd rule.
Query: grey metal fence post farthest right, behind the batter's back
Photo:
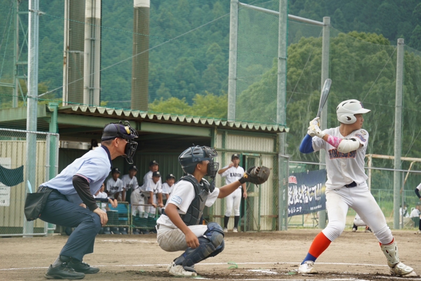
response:
[[[399,229],[399,196],[401,190],[402,154],[402,92],[404,80],[404,39],[398,39],[398,54],[396,61],[396,95],[394,111],[394,161],[393,168],[393,228]],[[402,206],[403,207],[403,206]]]

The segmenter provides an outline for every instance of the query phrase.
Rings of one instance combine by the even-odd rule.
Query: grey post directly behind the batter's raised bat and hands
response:
[[[320,82],[320,91],[325,84],[325,80],[329,78],[329,37],[330,37],[330,17],[323,18],[323,38],[321,43],[321,82]],[[328,127],[328,103],[323,107],[323,110],[320,114],[320,127],[321,130],[325,130]],[[319,151],[319,163],[326,163],[326,151],[321,149]],[[325,165],[320,165],[319,169],[325,169]],[[326,211],[319,211],[318,214],[319,228],[326,227]]]

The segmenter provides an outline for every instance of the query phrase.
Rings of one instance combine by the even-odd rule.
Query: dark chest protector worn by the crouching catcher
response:
[[[202,180],[201,184],[197,182],[196,178],[192,175],[186,175],[180,178],[180,181],[188,181],[194,187],[194,199],[191,201],[189,208],[185,215],[180,215],[184,223],[189,225],[199,224],[202,217],[203,209],[205,208],[206,199],[209,195],[209,182]]]

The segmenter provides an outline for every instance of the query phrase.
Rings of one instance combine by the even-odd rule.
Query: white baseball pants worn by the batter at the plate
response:
[[[326,190],[329,223],[322,232],[330,241],[334,241],[343,232],[348,208],[354,209],[361,219],[372,228],[380,243],[392,242],[392,232],[366,183],[353,188],[341,187]]]

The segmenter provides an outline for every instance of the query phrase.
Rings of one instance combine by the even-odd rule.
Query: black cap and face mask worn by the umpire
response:
[[[101,140],[105,141],[115,138],[127,140],[125,155],[122,155],[122,157],[126,158],[129,164],[133,164],[133,156],[137,148],[137,142],[134,141],[134,139],[137,137],[137,131],[133,129],[129,121],[124,121],[124,123],[119,121],[118,123],[109,123],[105,125]]]

